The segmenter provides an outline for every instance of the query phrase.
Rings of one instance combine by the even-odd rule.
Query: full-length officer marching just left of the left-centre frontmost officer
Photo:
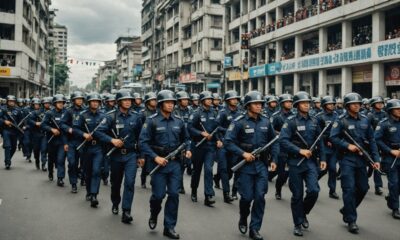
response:
[[[116,146],[116,150],[110,155],[112,213],[118,214],[118,206],[121,202],[121,184],[124,179],[122,222],[127,224],[133,220],[131,209],[137,165],[138,163],[140,166],[144,164],[144,160],[139,158],[137,147],[142,119],[138,113],[131,110],[132,100],[133,96],[130,91],[118,91],[118,108],[107,114],[107,123],[103,126],[104,131],[112,129],[113,133],[111,137],[107,136],[106,142],[115,141],[117,143],[113,144]]]

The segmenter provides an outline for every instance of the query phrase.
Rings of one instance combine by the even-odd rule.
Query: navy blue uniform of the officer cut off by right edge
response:
[[[391,150],[400,149],[400,121],[389,116],[382,120],[375,131],[376,143],[382,153],[382,169],[387,172],[389,197],[387,205],[390,209],[399,209],[400,194],[400,159],[392,166],[395,157]]]

